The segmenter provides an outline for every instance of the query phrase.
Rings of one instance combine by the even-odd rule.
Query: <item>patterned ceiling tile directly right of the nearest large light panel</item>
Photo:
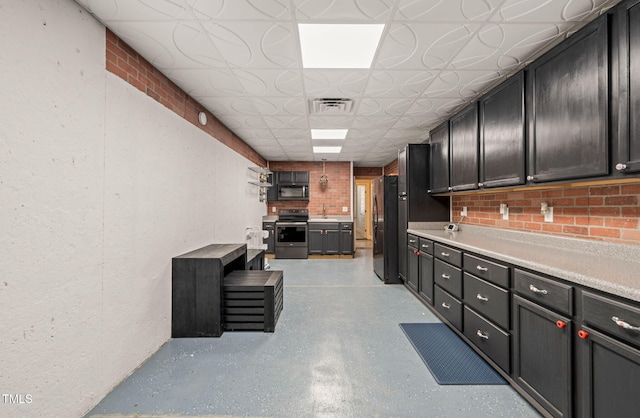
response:
[[[479,28],[470,23],[393,23],[374,68],[442,68]]]

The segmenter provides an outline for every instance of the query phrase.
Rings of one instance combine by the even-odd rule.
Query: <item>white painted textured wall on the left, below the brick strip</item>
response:
[[[104,37],[0,0],[0,416],[86,412],[170,338],[171,257],[265,214],[253,164],[107,73]]]

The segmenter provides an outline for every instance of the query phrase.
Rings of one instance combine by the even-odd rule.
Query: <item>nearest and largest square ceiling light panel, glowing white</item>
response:
[[[384,24],[298,24],[304,68],[370,68]]]

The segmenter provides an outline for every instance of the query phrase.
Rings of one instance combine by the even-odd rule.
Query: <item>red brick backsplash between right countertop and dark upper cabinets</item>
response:
[[[640,182],[636,182],[456,195],[452,207],[454,222],[467,207],[463,224],[639,245],[639,201]],[[540,213],[543,202],[553,207],[552,223],[544,222]],[[502,220],[501,203],[509,206],[509,220]]]

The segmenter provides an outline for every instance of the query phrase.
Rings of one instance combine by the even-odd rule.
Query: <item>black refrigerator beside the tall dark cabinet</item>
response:
[[[387,284],[398,277],[398,177],[373,180],[373,271]]]

